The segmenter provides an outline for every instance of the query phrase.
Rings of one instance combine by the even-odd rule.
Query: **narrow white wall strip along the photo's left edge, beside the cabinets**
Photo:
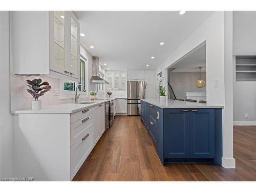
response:
[[[10,115],[9,12],[0,11],[0,177],[13,177],[13,124]],[[1,137],[2,135],[2,137]],[[2,153],[1,153],[2,152]]]

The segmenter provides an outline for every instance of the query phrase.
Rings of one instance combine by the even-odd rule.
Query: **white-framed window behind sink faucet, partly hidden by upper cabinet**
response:
[[[80,59],[80,82],[66,82],[64,80],[60,81],[60,89],[61,89],[61,98],[73,98],[75,95],[75,89],[78,83],[81,83],[83,90],[87,90],[87,82],[86,82],[86,62],[87,59],[81,57]],[[81,91],[81,86],[78,87],[78,93],[82,95],[87,95],[87,92]],[[71,97],[72,95],[72,97]]]

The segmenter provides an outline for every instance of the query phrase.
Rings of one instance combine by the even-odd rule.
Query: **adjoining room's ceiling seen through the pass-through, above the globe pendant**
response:
[[[172,72],[199,72],[199,67],[202,72],[206,71],[206,45],[177,62]]]

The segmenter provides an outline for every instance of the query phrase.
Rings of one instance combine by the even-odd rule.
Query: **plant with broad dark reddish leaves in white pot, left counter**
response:
[[[34,80],[26,80],[27,86],[29,89],[27,91],[32,95],[35,99],[32,101],[32,109],[33,110],[40,110],[42,108],[42,101],[38,101],[38,98],[44,95],[46,92],[50,91],[52,88],[50,84],[46,81],[42,82],[41,79],[34,79]]]

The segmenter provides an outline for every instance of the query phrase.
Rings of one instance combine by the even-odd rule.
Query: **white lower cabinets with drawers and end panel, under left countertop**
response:
[[[104,103],[72,114],[15,114],[14,177],[72,180],[104,133],[104,118]]]

